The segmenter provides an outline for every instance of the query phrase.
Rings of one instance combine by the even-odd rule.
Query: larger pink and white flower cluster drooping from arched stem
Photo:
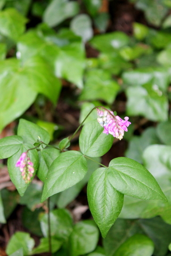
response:
[[[128,121],[129,117],[126,116],[124,118],[125,120],[123,120],[119,116],[113,115],[112,111],[109,111],[111,113],[110,115],[107,110],[103,111],[99,108],[96,108],[96,110],[98,116],[97,121],[104,127],[103,133],[110,133],[119,140],[123,139],[124,132],[128,131],[127,127],[131,124],[131,122]]]

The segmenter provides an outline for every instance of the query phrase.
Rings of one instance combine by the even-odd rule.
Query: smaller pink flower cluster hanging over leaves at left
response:
[[[29,183],[34,173],[34,167],[30,158],[27,156],[27,152],[22,153],[15,166],[20,167],[23,180],[25,180],[26,183]]]

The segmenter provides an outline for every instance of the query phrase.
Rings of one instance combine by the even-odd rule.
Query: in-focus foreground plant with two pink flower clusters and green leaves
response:
[[[72,138],[94,109],[97,120],[83,126],[79,135],[80,151],[69,150]],[[44,183],[41,202],[75,186],[87,174],[87,160],[97,163],[96,157],[111,148],[113,137],[123,139],[131,124],[128,117],[123,120],[102,106],[93,108],[86,118],[58,147],[49,145],[50,136],[44,129],[24,119],[20,119],[17,135],[0,140],[0,157],[8,158],[11,180],[21,196],[35,175]],[[109,166],[97,164],[101,167],[88,180],[87,198],[103,237],[118,218],[124,195],[167,201],[152,174],[133,159],[118,157]]]

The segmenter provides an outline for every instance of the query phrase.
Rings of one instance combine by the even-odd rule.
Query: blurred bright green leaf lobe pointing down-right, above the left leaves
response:
[[[51,67],[43,58],[35,56],[28,59],[21,74],[25,76],[32,90],[43,93],[56,104],[61,91],[61,82],[53,75]]]

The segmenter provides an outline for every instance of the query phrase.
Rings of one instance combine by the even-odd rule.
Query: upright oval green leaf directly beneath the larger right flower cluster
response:
[[[94,120],[84,125],[79,136],[79,147],[86,156],[98,157],[109,151],[112,146],[111,134],[103,133],[103,127]]]

